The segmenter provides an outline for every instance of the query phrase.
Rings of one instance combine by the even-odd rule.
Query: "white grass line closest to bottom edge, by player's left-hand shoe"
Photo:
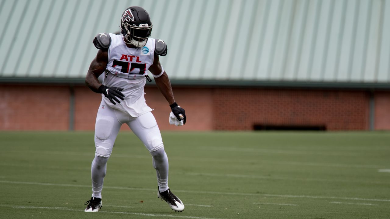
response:
[[[63,207],[38,207],[38,206],[23,206],[23,205],[1,205],[0,207],[10,207],[10,208],[37,208],[37,209],[50,209],[50,210],[67,210],[67,211],[79,211],[84,212],[84,210],[80,209],[72,209],[72,208],[63,208]],[[176,218],[188,218],[188,219],[222,219],[222,218],[213,218],[213,217],[195,217],[195,216],[181,216],[181,215],[167,215],[167,214],[145,214],[145,213],[136,213],[136,212],[113,212],[113,211],[102,211],[102,213],[112,213],[112,214],[132,214],[132,215],[142,215],[142,216],[150,216],[150,217],[176,217]]]

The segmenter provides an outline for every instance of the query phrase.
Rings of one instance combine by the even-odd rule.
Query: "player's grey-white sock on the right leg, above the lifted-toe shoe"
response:
[[[157,184],[160,193],[168,190],[168,156],[164,148],[150,152],[153,158],[153,167],[157,173]]]

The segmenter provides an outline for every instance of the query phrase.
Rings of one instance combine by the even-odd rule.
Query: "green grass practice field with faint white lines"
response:
[[[169,186],[157,198],[151,156],[121,132],[103,208],[91,195],[93,132],[0,132],[0,218],[390,218],[390,132],[163,132]]]

